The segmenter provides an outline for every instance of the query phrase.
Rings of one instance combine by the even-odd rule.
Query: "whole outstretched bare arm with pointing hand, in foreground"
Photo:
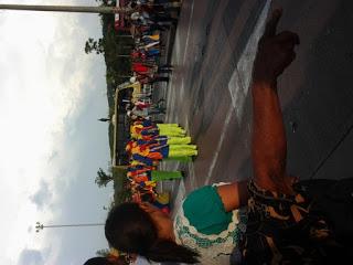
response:
[[[295,60],[296,33],[276,34],[281,10],[275,10],[258,43],[253,70],[253,144],[255,182],[263,189],[292,193],[286,173],[287,140],[277,93],[277,77]]]

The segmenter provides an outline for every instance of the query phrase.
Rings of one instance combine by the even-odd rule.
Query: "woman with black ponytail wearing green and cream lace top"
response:
[[[244,192],[240,192],[244,191]],[[220,264],[245,227],[246,182],[206,186],[188,195],[174,221],[149,203],[122,203],[108,214],[109,244],[153,262]]]

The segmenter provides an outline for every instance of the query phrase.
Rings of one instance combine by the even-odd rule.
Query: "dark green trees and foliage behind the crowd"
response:
[[[116,6],[116,0],[96,0],[99,6]],[[114,14],[99,14],[103,26],[103,38],[94,40],[89,38],[85,43],[85,53],[96,53],[104,55],[106,63],[106,83],[107,83],[107,99],[109,106],[109,118],[114,115],[115,109],[115,89],[118,84],[126,81],[126,76],[131,75],[131,60],[129,56],[130,47],[133,45],[133,39],[128,38],[129,32],[117,32],[114,28]],[[125,55],[125,56],[121,56]],[[109,146],[110,155],[114,150],[114,126],[109,123]],[[95,183],[98,187],[106,187],[111,180],[114,181],[114,201],[109,205],[121,203],[131,198],[130,191],[127,188],[128,179],[127,171],[124,169],[113,168],[106,173],[99,168]]]

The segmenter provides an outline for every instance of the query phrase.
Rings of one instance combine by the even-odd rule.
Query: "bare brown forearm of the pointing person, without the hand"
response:
[[[265,189],[285,192],[287,140],[277,83],[254,80],[252,92],[255,180]]]

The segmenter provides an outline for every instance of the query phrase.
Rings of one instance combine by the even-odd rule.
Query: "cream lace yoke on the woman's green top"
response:
[[[174,234],[178,244],[188,246],[200,253],[201,264],[220,264],[222,259],[228,261],[229,254],[238,245],[246,229],[246,212],[235,210],[226,230],[218,234],[203,234],[190,224],[180,208],[174,218]]]

